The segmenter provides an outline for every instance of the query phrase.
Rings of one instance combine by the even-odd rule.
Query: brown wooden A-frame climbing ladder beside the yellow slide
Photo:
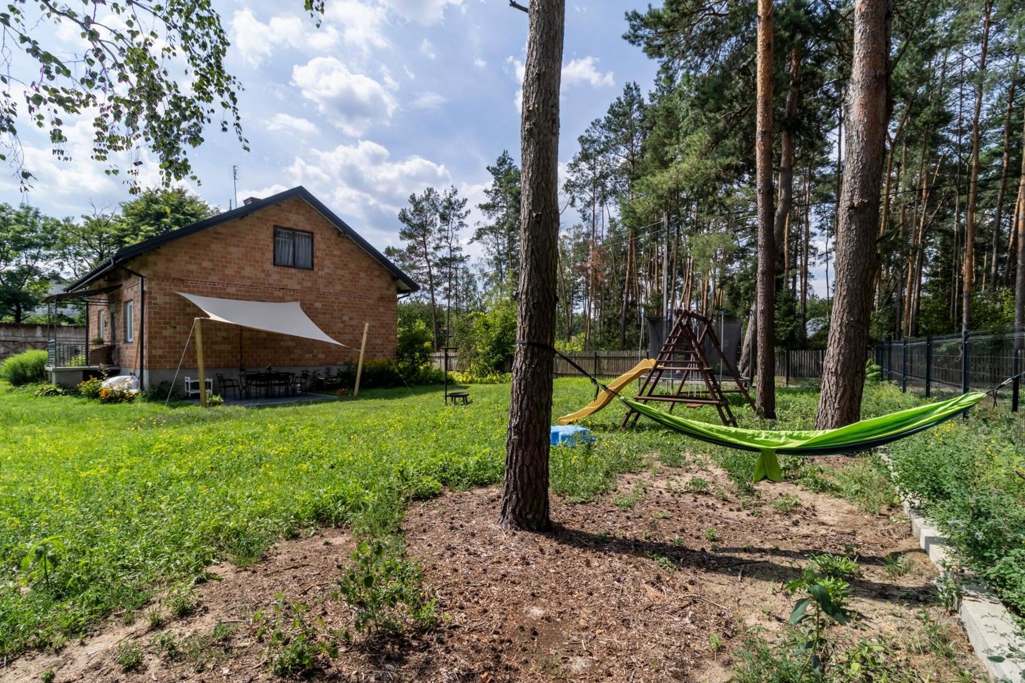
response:
[[[724,390],[715,377],[712,366],[708,363],[702,351],[702,345],[708,340],[715,353],[723,361],[723,370],[732,375],[736,383],[736,389]],[[668,373],[666,375],[666,373]],[[697,389],[688,390],[689,379],[700,379]],[[675,391],[669,394],[657,393],[659,387],[665,381],[670,386],[675,384]],[[704,389],[700,389],[701,386]],[[693,387],[692,387],[693,389]],[[723,353],[719,336],[709,318],[692,313],[691,311],[676,311],[673,316],[672,328],[665,336],[662,348],[655,358],[655,366],[645,375],[641,385],[641,391],[634,397],[638,401],[664,401],[669,403],[669,412],[676,407],[678,403],[683,403],[689,408],[697,408],[702,405],[713,405],[719,411],[720,419],[727,427],[736,427],[737,418],[730,409],[730,402],[727,394],[743,394],[747,403],[754,410],[754,402],[751,400],[747,387],[741,379],[737,368],[729,358]],[[640,413],[632,408],[626,411],[623,417],[623,427],[628,424],[637,424]],[[632,420],[632,421],[631,421]]]

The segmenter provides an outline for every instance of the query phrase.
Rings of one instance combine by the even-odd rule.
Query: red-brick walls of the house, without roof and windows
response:
[[[276,226],[314,234],[313,270],[274,265]],[[132,259],[128,267],[146,276],[145,353],[150,370],[173,371],[193,320],[203,315],[177,291],[222,298],[298,300],[306,315],[327,334],[357,349],[363,323],[369,322],[367,357],[395,356],[395,278],[300,198],[169,242]],[[115,321],[117,360],[127,371],[138,367],[138,359],[136,345],[124,343],[124,303],[129,298],[135,300],[137,339],[141,314],[138,279],[120,272],[94,286],[114,282],[123,286],[110,295],[108,319]],[[98,310],[93,307],[90,315],[92,335],[97,329]],[[211,321],[203,322],[203,343],[208,368],[337,366],[355,361],[358,355],[321,342]],[[192,345],[182,367],[189,370],[196,367]]]

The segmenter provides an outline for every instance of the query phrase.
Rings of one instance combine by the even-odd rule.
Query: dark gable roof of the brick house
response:
[[[260,210],[266,206],[273,204],[278,204],[288,199],[298,197],[304,200],[308,204],[314,207],[318,213],[323,215],[328,222],[338,229],[338,232],[347,237],[348,239],[356,242],[364,251],[366,251],[370,256],[376,260],[378,264],[384,267],[395,278],[399,281],[399,288],[404,292],[414,292],[420,288],[420,285],[416,284],[412,278],[402,272],[398,266],[392,263],[384,254],[375,249],[370,245],[365,239],[360,237],[359,233],[350,228],[348,224],[338,217],[331,209],[324,205],[319,199],[313,196],[313,194],[303,188],[301,185],[291,190],[285,190],[284,192],[279,192],[276,195],[272,195],[265,199],[257,199],[256,201],[250,202],[248,204],[243,204],[238,208],[234,208],[231,211],[224,211],[223,213],[218,213],[217,215],[212,215],[209,218],[204,218],[203,220],[198,220],[194,224],[188,225],[184,228],[179,228],[177,230],[172,230],[169,233],[164,233],[163,235],[157,235],[156,237],[151,237],[148,240],[142,240],[135,244],[129,244],[128,246],[118,249],[113,256],[105,259],[94,269],[83,275],[81,278],[71,283],[65,288],[65,291],[75,291],[85,285],[89,284],[96,278],[100,278],[110,271],[117,268],[120,264],[126,260],[134,258],[135,256],[141,255],[148,251],[152,251],[158,247],[167,244],[168,242],[173,242],[174,240],[187,237],[193,233],[198,233],[201,230],[206,230],[207,228],[213,228],[214,226],[219,226],[222,223],[228,223],[235,218],[241,218],[247,216],[250,213]]]

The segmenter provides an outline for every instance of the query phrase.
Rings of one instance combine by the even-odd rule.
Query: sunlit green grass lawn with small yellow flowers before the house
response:
[[[444,406],[436,387],[204,411],[37,398],[0,385],[0,654],[132,614],[158,591],[203,580],[217,560],[257,561],[278,538],[331,525],[386,534],[411,499],[500,482],[508,391],[476,386],[465,407]],[[865,416],[916,401],[893,388],[871,391]],[[592,396],[585,380],[557,380],[554,413]],[[780,390],[779,424],[811,427],[816,401],[812,389]],[[743,406],[735,411],[742,425],[755,424]],[[750,454],[685,442],[651,424],[620,430],[622,414],[613,405],[587,423],[593,447],[552,450],[556,493],[592,499],[617,473],[685,465],[686,448],[723,465],[741,495],[756,495]],[[688,415],[714,420],[708,408]],[[789,479],[877,510],[893,489],[865,461],[833,475],[781,458]]]

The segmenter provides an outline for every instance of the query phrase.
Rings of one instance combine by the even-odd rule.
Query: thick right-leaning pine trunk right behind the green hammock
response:
[[[854,52],[848,85],[847,164],[834,260],[835,297],[829,325],[817,429],[857,421],[865,383],[878,260],[875,236],[890,121],[890,0],[856,0]]]

